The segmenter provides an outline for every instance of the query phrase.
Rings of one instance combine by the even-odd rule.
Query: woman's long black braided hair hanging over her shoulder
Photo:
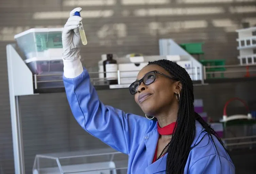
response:
[[[191,147],[195,136],[195,120],[198,120],[205,128],[205,135],[208,135],[212,139],[212,135],[220,141],[225,149],[225,146],[221,139],[217,136],[216,132],[208,125],[202,117],[194,111],[194,94],[193,94],[193,82],[187,73],[187,71],[178,64],[171,62],[170,60],[157,60],[149,62],[149,65],[155,64],[163,67],[167,70],[175,79],[181,81],[182,90],[180,92],[179,108],[176,121],[176,129],[172,135],[171,141],[167,144],[164,150],[161,152],[158,159],[164,152],[167,152],[166,160],[166,173],[177,174],[184,173],[184,168],[188,159],[190,150],[198,145],[195,144]],[[204,135],[204,136],[205,136]],[[214,143],[214,141],[212,141]],[[215,143],[214,143],[215,145]],[[216,147],[216,145],[215,145]],[[226,149],[225,149],[226,150]]]

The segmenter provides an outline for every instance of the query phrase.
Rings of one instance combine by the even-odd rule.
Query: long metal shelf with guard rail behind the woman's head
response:
[[[248,68],[254,68],[251,70],[248,70]],[[226,71],[214,71],[214,72],[206,72],[206,68],[227,68]],[[236,70],[232,70],[232,69]],[[126,72],[126,71],[125,71]],[[132,71],[133,72],[133,71]],[[209,85],[209,84],[216,84],[216,83],[232,83],[232,82],[247,82],[247,81],[254,81],[256,80],[256,75],[251,77],[243,77],[241,76],[241,73],[256,73],[256,64],[252,65],[224,65],[224,66],[204,66],[203,67],[203,74],[204,74],[204,80],[197,80],[193,81],[193,84],[195,86],[200,85]],[[90,75],[98,75],[99,72],[89,72]],[[121,72],[118,71],[118,74]],[[235,73],[239,73],[240,77],[227,77],[227,78],[214,78],[214,79],[206,79],[205,76],[207,74],[226,74],[226,75],[234,75]],[[200,74],[200,73],[199,73]],[[58,79],[62,79],[62,73],[60,74],[48,74],[47,76],[59,76]],[[37,80],[38,77],[45,76],[45,75],[34,75],[33,78],[33,85],[34,85],[34,93],[55,93],[55,92],[65,92],[64,84],[62,80],[51,80],[51,81],[39,81]],[[120,82],[120,75],[118,76],[118,82]],[[130,78],[130,77],[127,77]],[[134,77],[136,78],[136,77]],[[50,87],[50,88],[38,88],[39,84],[41,83],[59,83],[59,87]],[[116,85],[108,85],[108,82],[106,79],[99,79],[99,78],[91,78],[91,83],[95,87],[96,90],[109,90],[109,89],[123,89],[128,88],[130,84],[116,84]],[[51,85],[48,85],[51,86]]]

